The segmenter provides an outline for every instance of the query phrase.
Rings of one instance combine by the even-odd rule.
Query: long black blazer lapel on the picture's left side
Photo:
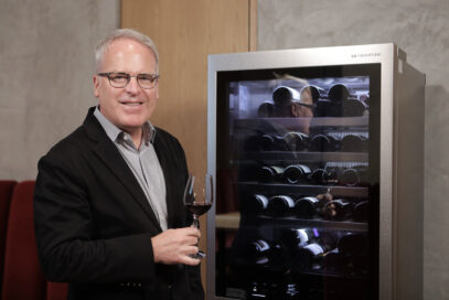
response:
[[[108,138],[106,132],[103,130],[101,126],[93,115],[93,109],[84,121],[84,127],[86,128],[90,138],[97,140],[96,147],[94,147],[94,152],[99,160],[103,161],[114,173],[117,179],[125,185],[128,192],[132,195],[132,199],[140,205],[140,207],[146,212],[150,221],[153,223],[158,231],[162,232],[158,218],[154,215],[148,200],[137,182],[132,171],[129,169],[128,164],[121,157],[117,147]]]

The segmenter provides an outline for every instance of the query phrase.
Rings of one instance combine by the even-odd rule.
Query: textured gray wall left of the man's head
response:
[[[0,0],[0,179],[34,179],[39,158],[95,105],[97,39],[119,0]]]

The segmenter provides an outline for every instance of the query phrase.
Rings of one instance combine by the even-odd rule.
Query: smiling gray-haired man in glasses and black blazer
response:
[[[158,52],[133,30],[96,49],[99,105],[39,162],[34,223],[46,278],[70,299],[204,299],[200,232],[182,203],[188,167],[178,140],[149,119]]]

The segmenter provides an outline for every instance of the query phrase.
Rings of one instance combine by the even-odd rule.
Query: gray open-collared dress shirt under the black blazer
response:
[[[95,108],[94,116],[98,119],[106,135],[117,147],[129,169],[139,182],[140,188],[154,215],[159,219],[162,231],[168,228],[167,225],[167,202],[165,202],[165,181],[158,156],[152,144],[156,136],[156,129],[151,122],[147,121],[142,127],[142,142],[137,149],[129,133],[122,131],[111,124],[98,107]]]

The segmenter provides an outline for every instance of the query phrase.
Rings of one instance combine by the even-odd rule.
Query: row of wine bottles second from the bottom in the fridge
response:
[[[290,195],[266,196],[254,194],[242,202],[242,214],[248,216],[324,218],[331,221],[366,222],[368,202],[352,202],[346,199],[333,199],[329,193],[317,196]]]

